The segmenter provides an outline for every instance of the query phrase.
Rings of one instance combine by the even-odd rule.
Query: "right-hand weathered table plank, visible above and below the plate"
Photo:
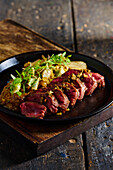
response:
[[[78,52],[96,58],[113,69],[113,2],[74,1]],[[112,169],[113,118],[85,133],[89,169]]]

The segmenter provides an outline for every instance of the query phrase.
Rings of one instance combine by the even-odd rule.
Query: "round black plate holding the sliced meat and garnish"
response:
[[[15,75],[15,69],[21,71],[23,65],[27,61],[35,61],[38,58],[41,58],[41,55],[47,56],[52,54],[61,53],[61,51],[35,51],[30,53],[23,53],[20,55],[16,55],[14,57],[8,58],[0,63],[0,93],[3,87],[7,84],[7,81],[10,79],[10,74]],[[46,121],[46,122],[54,122],[54,121],[69,121],[80,118],[85,118],[88,116],[92,116],[106,109],[113,101],[113,71],[107,67],[102,62],[93,59],[91,57],[70,53],[72,54],[71,60],[80,60],[87,63],[88,68],[94,72],[98,72],[105,77],[106,86],[102,89],[96,89],[92,96],[88,96],[81,101],[77,102],[74,108],[71,108],[70,111],[66,112],[62,116],[46,116],[43,120],[39,120],[36,118],[27,118],[21,114],[17,114],[7,108],[4,108],[0,105],[0,110],[6,114],[16,116],[18,118],[23,118],[26,120],[37,120],[37,121]]]

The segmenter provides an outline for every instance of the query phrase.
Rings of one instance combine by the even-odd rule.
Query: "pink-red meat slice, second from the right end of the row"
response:
[[[83,73],[82,81],[87,87],[86,95],[91,95],[98,86],[97,80],[88,72]]]

